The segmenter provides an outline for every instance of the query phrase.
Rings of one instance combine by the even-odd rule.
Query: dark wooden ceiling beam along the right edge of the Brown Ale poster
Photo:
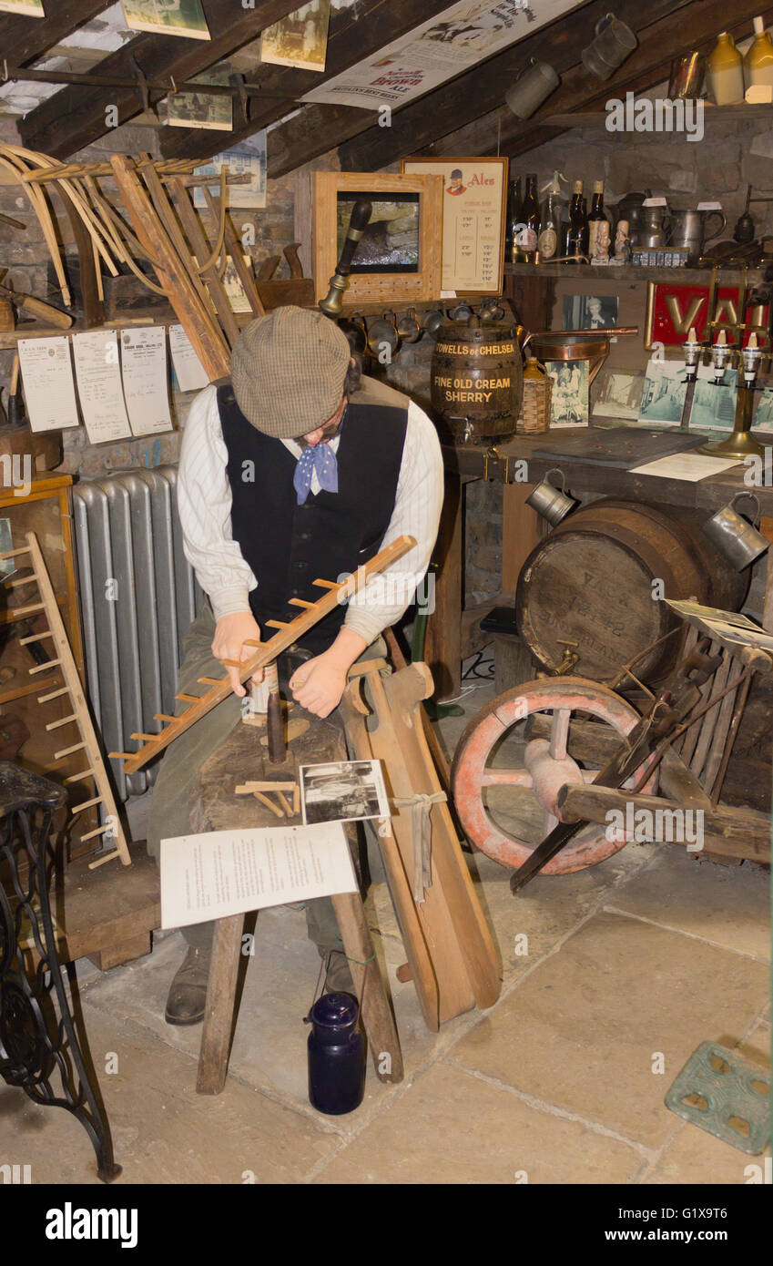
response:
[[[700,9],[702,3],[705,0],[692,4],[692,8]],[[652,23],[688,5],[691,0],[648,0],[646,4],[641,0],[617,0],[615,14],[639,33]],[[367,130],[358,128],[357,134],[350,133],[356,139],[348,139],[345,144],[339,142],[342,170],[380,171],[399,158],[420,153],[438,138],[458,132],[464,124],[496,110],[504,104],[505,92],[512,86],[517,72],[530,57],[548,62],[564,76],[579,62],[579,53],[592,39],[596,22],[609,11],[609,0],[591,0],[579,9],[572,9],[549,27],[541,27],[533,35],[511,44],[482,66],[473,67],[455,80],[443,84],[434,92],[406,105],[393,116],[391,128],[368,127]],[[692,38],[692,32],[688,35],[686,32],[690,32],[687,24],[682,32],[683,47],[686,38]],[[590,78],[587,71],[583,73]]]

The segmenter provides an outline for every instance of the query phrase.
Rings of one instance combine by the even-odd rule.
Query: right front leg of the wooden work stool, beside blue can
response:
[[[344,942],[354,989],[362,1006],[362,1022],[380,1081],[402,1081],[402,1052],[359,893],[339,893],[333,909]],[[363,966],[364,965],[364,966]],[[385,1058],[386,1056],[386,1058]]]

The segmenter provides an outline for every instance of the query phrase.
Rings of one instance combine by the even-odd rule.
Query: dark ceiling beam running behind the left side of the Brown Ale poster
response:
[[[448,9],[448,0],[423,0],[421,20],[426,22],[435,13]],[[359,0],[352,9],[337,9],[330,14],[328,37],[328,60],[325,72],[300,71],[287,66],[266,65],[249,76],[252,84],[259,84],[266,94],[280,92],[301,97],[326,80],[334,78],[349,66],[357,65],[363,57],[371,57],[393,39],[400,39],[416,25],[415,0]],[[304,109],[304,116],[311,106]],[[211,158],[221,149],[245,141],[262,128],[281,119],[288,113],[286,101],[266,104],[261,97],[250,101],[250,119],[247,125],[237,127],[230,135],[219,132],[206,132],[204,128],[164,128],[161,139],[161,152],[164,158]],[[328,146],[326,148],[331,148]]]

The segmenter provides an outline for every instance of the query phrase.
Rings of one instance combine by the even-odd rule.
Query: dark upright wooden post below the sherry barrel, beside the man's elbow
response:
[[[426,625],[424,660],[442,701],[462,691],[462,484],[448,472],[434,561],[435,610]]]

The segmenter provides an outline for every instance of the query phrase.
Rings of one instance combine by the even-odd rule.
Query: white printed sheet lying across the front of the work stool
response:
[[[210,830],[161,841],[162,928],[354,891],[349,846],[339,822]]]

